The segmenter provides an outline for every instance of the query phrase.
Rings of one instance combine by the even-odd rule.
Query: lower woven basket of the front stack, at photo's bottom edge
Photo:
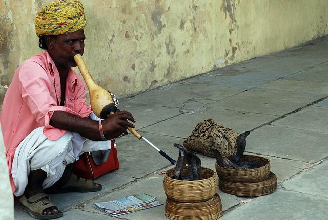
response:
[[[200,203],[180,203],[166,199],[165,216],[169,219],[213,219],[222,216],[222,204],[218,194]]]

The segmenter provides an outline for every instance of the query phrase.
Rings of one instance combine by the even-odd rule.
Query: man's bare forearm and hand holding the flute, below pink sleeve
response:
[[[135,127],[127,120],[136,122],[131,113],[120,111],[101,121],[106,139],[117,138],[122,133],[126,133],[126,127]],[[90,140],[103,141],[100,136],[98,121],[89,118],[80,118],[64,111],[54,111],[50,119],[50,125],[71,132],[77,132]]]

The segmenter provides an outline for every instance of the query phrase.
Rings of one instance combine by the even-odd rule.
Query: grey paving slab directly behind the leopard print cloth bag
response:
[[[209,104],[207,107],[208,109],[206,110],[192,114],[181,114],[180,116],[163,121],[159,124],[142,128],[141,131],[187,138],[191,135],[197,123],[212,118],[215,123],[232,128],[241,133],[277,118],[277,116],[273,115],[219,109],[216,103]]]

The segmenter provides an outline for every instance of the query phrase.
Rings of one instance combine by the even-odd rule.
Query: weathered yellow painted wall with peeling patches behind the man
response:
[[[42,51],[34,18],[49,2],[0,0],[0,97],[19,63]],[[85,61],[96,82],[118,97],[328,34],[326,0],[81,2]]]

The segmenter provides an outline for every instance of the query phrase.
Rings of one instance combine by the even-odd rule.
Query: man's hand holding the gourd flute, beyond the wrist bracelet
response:
[[[136,122],[133,115],[127,111],[117,109],[116,113],[108,115],[106,119],[101,121],[105,137],[113,139],[119,137],[122,133],[127,134],[127,127],[135,128],[128,120]]]

